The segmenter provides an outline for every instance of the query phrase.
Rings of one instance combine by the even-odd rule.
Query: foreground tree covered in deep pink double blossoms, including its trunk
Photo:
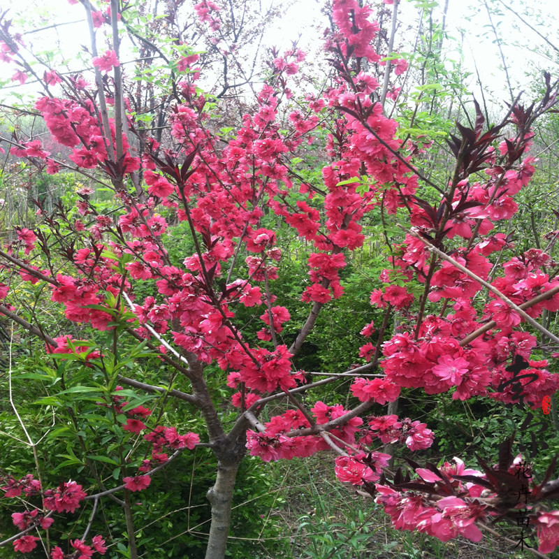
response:
[[[1,24],[3,61],[15,64],[15,80],[34,76],[41,83],[45,94],[34,110],[68,157],[54,157],[34,137],[2,137],[3,145],[38,175],[73,169],[87,177],[87,185],[79,187],[74,208],[57,203],[48,212],[38,200],[36,226],[16,228],[0,252],[0,312],[45,342],[45,359],[55,363],[46,377],[55,388],[43,404],[52,408],[55,423],[67,415],[61,428],[75,433],[85,453],[82,462],[70,453],[68,464],[87,467],[95,483],[85,488],[84,482],[68,479],[58,487],[43,486],[36,452],[36,474],[14,477],[10,465],[2,464],[0,488],[4,499],[18,499],[12,516],[20,532],[1,544],[13,542],[15,551],[27,553],[41,539],[52,559],[104,554],[105,539],[89,538],[89,530],[100,500],[110,498],[122,506],[126,553],[136,558],[131,493],[147,488],[159,470],[197,446],[210,448],[218,461],[208,491],[208,559],[224,557],[236,475],[247,453],[266,461],[291,460],[333,449],[340,481],[374,495],[396,528],[442,541],[463,535],[477,542],[479,526],[496,518],[514,521],[521,458],[514,458],[510,440],[494,467],[480,458],[481,470],[467,469],[455,458],[441,467],[410,462],[413,478],[394,475],[382,445],[427,449],[433,431],[393,413],[368,412],[375,404],[395,402],[402,389],[431,395],[453,391],[455,400],[485,396],[504,403],[520,395],[534,409],[558,389],[547,362],[532,360],[537,348],[532,329],[559,343],[537,322],[544,310],[559,310],[555,263],[546,249],[514,252],[510,235],[491,234],[495,223],[514,218],[514,195],[535,172],[527,150],[532,124],[556,103],[557,87],[549,75],[542,99],[528,107],[517,99],[498,125],[486,127],[475,103],[472,126],[457,124],[449,140],[453,172],[437,184],[419,168],[427,146],[398,139],[398,124],[386,116],[385,101],[398,94],[396,80],[407,63],[391,55],[392,44],[388,52],[373,48],[379,28],[368,6],[333,1],[325,45],[333,78],[324,91],[291,104],[291,76],[305,53],[296,47],[276,52],[264,84],[254,91],[254,109],[224,136],[212,123],[217,99],[197,85],[199,55],[181,44],[180,36],[159,46],[157,37],[142,36],[131,26],[129,3],[81,3],[92,37],[94,83],[50,66],[38,72],[9,22]],[[203,0],[194,6],[198,25],[214,44],[228,37],[222,31],[226,4]],[[397,10],[398,1],[394,17]],[[110,26],[110,42],[98,50],[96,29],[104,26]],[[143,105],[122,69],[119,29],[168,64],[166,89],[146,82],[152,96],[165,99],[155,130],[140,118],[147,112],[151,122],[153,99]],[[229,46],[222,56],[237,64],[235,45]],[[307,145],[324,150],[329,159],[320,184],[302,179],[290,163]],[[93,201],[96,188],[110,190],[112,208]],[[363,220],[377,210],[383,219],[407,220],[380,275],[383,287],[370,296],[384,319],[359,325],[364,337],[375,340],[361,347],[365,365],[310,382],[307,372],[293,370],[292,360],[319,313],[343,296],[340,272],[347,256],[363,245]],[[300,293],[309,311],[291,344],[281,335],[291,319],[289,309],[275,305],[282,249],[271,227],[279,222],[312,246],[310,282]],[[175,230],[189,234],[190,254],[173,256],[169,245]],[[507,254],[515,256],[507,259]],[[49,335],[41,326],[40,307],[26,314],[10,303],[18,278],[49,290],[67,333]],[[488,298],[481,303],[479,293],[486,289]],[[247,314],[252,321],[245,325],[239,316]],[[405,326],[391,335],[393,314]],[[82,325],[83,339],[71,335],[71,323]],[[166,371],[158,384],[133,374],[137,362],[153,356]],[[521,382],[520,391],[508,367],[515,356],[526,361],[532,377]],[[382,373],[367,373],[377,368]],[[224,390],[238,410],[230,423],[209,388],[217,370],[226,373],[230,390]],[[348,376],[358,402],[354,407],[312,400],[312,389]],[[179,379],[187,391],[175,388]],[[300,400],[303,393],[312,405]],[[176,399],[185,414],[196,409],[205,433],[180,433],[166,425],[154,406],[143,405],[155,401],[153,395]],[[285,411],[261,423],[266,405],[278,400],[285,402]],[[96,443],[86,432],[88,418],[106,432],[101,458],[90,456]],[[22,427],[35,450],[38,443]],[[114,467],[112,475],[100,475],[96,460]],[[559,511],[544,504],[558,495],[559,481],[551,481],[552,475],[550,467],[539,483],[531,475],[523,482],[542,553],[559,544]],[[82,537],[69,540],[66,549],[43,538],[57,516],[89,502]]]

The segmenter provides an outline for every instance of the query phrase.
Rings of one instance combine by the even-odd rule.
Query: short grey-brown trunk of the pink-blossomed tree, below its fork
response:
[[[237,460],[219,460],[217,463],[217,477],[215,484],[208,491],[208,500],[212,504],[212,523],[210,525],[210,539],[205,559],[224,559],[227,545],[229,525],[231,525],[231,507],[233,504],[233,489],[239,462]]]

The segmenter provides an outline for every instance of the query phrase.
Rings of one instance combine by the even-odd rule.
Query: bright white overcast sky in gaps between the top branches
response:
[[[273,0],[262,0],[265,5],[270,1]],[[317,37],[316,32],[312,31],[312,26],[321,21],[324,22],[320,15],[321,0],[287,1],[292,2],[291,7],[286,10],[281,20],[273,24],[266,35],[265,43],[268,46],[277,45],[286,49],[290,47],[293,39],[301,35],[300,45],[303,46],[303,50],[306,48],[305,45],[308,50],[312,50],[312,41],[316,41],[314,38]],[[401,0],[402,23],[396,36],[397,44],[405,43],[406,40],[409,41],[409,37],[415,36],[418,1],[421,0]],[[538,50],[535,46],[544,44],[544,41],[525,27],[513,14],[502,8],[500,1],[519,9],[533,27],[536,27],[545,36],[549,36],[550,41],[559,47],[559,0],[488,0],[491,6],[500,7],[504,13],[504,16],[495,15],[493,23],[497,26],[502,40],[502,50],[515,94],[522,87],[523,75],[526,71],[541,68],[559,75],[558,53],[554,53],[554,60],[535,54],[535,51]],[[440,3],[444,3],[444,0],[440,0]],[[31,31],[29,27],[36,29],[36,27],[46,27],[54,22],[75,22],[82,18],[81,6],[71,6],[67,0],[4,0],[3,6],[10,9],[10,16],[15,16],[15,20],[17,20],[18,14],[23,14],[27,20],[29,17],[34,18],[34,22],[24,27],[26,32]],[[33,15],[30,16],[30,14]],[[42,24],[39,21],[41,14],[44,15]],[[50,16],[47,17],[46,14],[50,14]],[[435,19],[440,20],[440,10],[435,10],[434,14]],[[460,41],[463,43],[463,63],[467,71],[472,73],[468,87],[472,90],[478,87],[475,79],[477,65],[477,71],[479,71],[489,98],[496,103],[502,103],[502,101],[509,101],[510,94],[505,85],[502,58],[488,23],[484,0],[449,0],[447,31],[451,36],[458,38],[458,43]],[[462,35],[460,30],[463,31],[463,39],[460,39]],[[66,52],[77,52],[80,44],[87,42],[87,27],[83,22],[75,22],[59,27],[56,32],[48,29],[29,34],[26,36],[26,40],[33,42],[36,48],[41,48],[41,45],[44,45],[44,48],[59,45]],[[447,56],[458,59],[460,55],[453,50],[453,44],[456,43],[452,43],[452,41],[445,43],[448,49]],[[11,73],[12,71],[8,72],[5,64],[0,63],[0,79],[9,80]],[[36,87],[22,88],[19,85],[8,83],[0,93],[0,97],[5,98],[6,94],[14,90],[32,92],[36,89]]]

